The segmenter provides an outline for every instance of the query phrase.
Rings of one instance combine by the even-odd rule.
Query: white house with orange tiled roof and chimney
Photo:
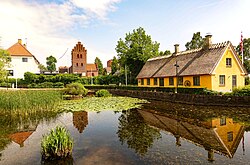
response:
[[[21,39],[7,51],[11,55],[11,63],[7,68],[10,73],[9,78],[24,78],[25,72],[40,73],[39,61],[27,50],[26,45],[22,44]]]

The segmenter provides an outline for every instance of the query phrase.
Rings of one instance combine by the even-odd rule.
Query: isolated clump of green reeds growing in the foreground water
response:
[[[43,135],[41,142],[43,159],[61,159],[72,156],[73,139],[65,127],[57,126]]]

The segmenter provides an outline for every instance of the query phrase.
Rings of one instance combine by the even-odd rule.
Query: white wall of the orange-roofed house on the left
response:
[[[22,58],[28,58],[28,62],[23,62]],[[25,72],[40,73],[35,59],[27,56],[11,56],[10,67],[7,70],[14,72],[9,78],[24,78]]]

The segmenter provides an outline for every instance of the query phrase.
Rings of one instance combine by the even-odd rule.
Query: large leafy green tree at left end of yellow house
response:
[[[159,45],[151,40],[151,36],[142,27],[127,33],[125,39],[120,38],[116,45],[120,67],[124,68],[126,65],[135,80],[146,61],[159,55]]]

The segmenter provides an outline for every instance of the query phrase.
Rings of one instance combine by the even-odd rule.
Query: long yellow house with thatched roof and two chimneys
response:
[[[207,88],[230,92],[245,85],[247,71],[230,41],[212,44],[206,36],[202,48],[149,59],[137,75],[138,86]]]

